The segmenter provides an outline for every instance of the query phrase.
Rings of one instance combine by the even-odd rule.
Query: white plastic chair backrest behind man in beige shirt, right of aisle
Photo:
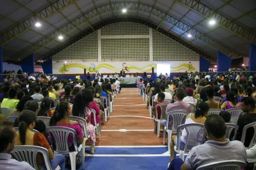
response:
[[[170,117],[172,117],[173,119],[173,127],[172,127],[172,132],[175,133],[177,131],[177,128],[179,127],[179,125],[183,125],[185,124],[186,121],[186,117],[189,113],[183,110],[175,110],[175,111],[171,111],[168,112],[166,114],[167,117],[167,128],[169,126],[169,119]]]

